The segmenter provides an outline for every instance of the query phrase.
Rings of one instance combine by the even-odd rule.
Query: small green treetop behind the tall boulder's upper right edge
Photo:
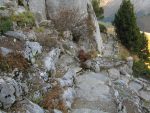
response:
[[[103,18],[104,10],[102,7],[99,6],[100,0],[92,0],[92,5],[93,5],[93,9],[94,9],[96,16],[100,19]]]

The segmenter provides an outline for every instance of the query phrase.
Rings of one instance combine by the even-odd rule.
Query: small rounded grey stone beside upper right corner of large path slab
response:
[[[109,73],[109,76],[114,80],[120,78],[120,72],[115,68],[109,69],[108,73]]]

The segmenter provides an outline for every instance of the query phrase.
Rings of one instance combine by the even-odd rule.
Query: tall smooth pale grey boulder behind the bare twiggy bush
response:
[[[50,18],[59,13],[61,9],[78,9],[80,14],[90,15],[95,25],[94,37],[99,52],[102,51],[102,38],[99,24],[90,0],[46,0],[47,14]]]

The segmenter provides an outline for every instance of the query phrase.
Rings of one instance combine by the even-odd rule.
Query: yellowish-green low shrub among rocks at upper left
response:
[[[21,27],[33,27],[35,25],[34,15],[29,11],[13,15],[12,20],[17,22],[17,25]]]

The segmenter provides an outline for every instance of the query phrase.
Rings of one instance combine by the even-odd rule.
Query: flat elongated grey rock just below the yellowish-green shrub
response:
[[[7,31],[5,33],[6,36],[12,37],[21,41],[24,41],[27,39],[27,36],[23,34],[22,31]]]

